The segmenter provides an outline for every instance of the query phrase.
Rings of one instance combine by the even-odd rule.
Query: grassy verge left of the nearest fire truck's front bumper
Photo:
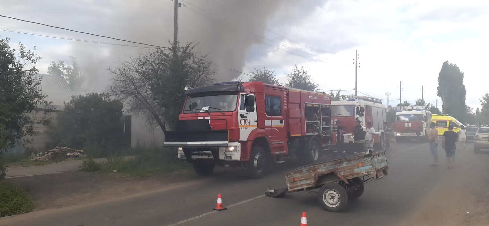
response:
[[[130,177],[149,177],[187,170],[178,160],[176,151],[165,148],[137,148],[131,153],[134,154],[134,158],[112,156],[107,162],[101,163],[86,159],[81,169],[88,172],[117,172]]]

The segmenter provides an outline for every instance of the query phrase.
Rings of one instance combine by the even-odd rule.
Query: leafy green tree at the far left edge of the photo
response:
[[[0,39],[0,161],[5,151],[17,145],[25,136],[36,136],[35,124],[49,123],[29,116],[35,107],[43,106],[49,113],[50,102],[42,94],[41,76],[37,75],[36,63],[41,59],[32,50],[19,43],[18,49],[10,46],[10,39]],[[23,139],[29,142],[28,139]],[[0,180],[5,175],[5,165],[0,163]]]

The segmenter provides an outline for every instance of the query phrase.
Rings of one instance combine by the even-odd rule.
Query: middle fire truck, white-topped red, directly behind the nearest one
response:
[[[333,101],[331,104],[333,125],[336,125],[336,120],[341,121],[345,143],[353,143],[353,132],[358,119],[361,121],[364,131],[367,122],[372,123],[372,127],[375,129],[374,149],[382,150],[384,148],[387,120],[385,106],[381,99],[357,96],[353,99]]]

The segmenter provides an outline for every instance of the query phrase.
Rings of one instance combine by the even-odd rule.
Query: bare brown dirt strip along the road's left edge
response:
[[[32,177],[10,178],[7,181],[24,188],[34,199],[36,210],[60,208],[76,204],[133,195],[160,189],[173,183],[198,177],[189,172],[148,179],[124,178],[117,174],[71,171]]]

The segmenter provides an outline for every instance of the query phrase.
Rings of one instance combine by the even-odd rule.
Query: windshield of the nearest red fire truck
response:
[[[187,96],[183,113],[233,112],[236,110],[238,94],[211,94]]]

